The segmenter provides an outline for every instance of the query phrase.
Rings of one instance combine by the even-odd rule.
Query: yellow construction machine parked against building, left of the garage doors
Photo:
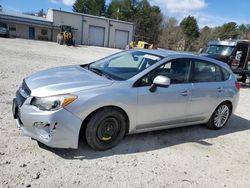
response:
[[[60,30],[60,33],[57,35],[57,43],[60,45],[66,44],[68,46],[75,45],[71,26],[61,25]]]

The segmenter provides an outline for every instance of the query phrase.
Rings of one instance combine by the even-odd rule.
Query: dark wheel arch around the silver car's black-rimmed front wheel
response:
[[[79,139],[81,138],[82,135],[84,135],[84,133],[86,131],[86,126],[87,126],[89,120],[91,119],[91,117],[97,111],[102,110],[104,108],[117,108],[117,109],[121,110],[122,113],[124,114],[125,118],[126,118],[126,134],[129,132],[130,121],[129,121],[129,116],[128,116],[127,112],[124,109],[122,109],[121,107],[119,107],[119,106],[107,105],[107,106],[102,106],[102,107],[99,107],[99,108],[95,109],[94,111],[92,111],[91,113],[89,113],[87,115],[87,117],[82,121],[82,125],[81,125],[80,132],[79,132]]]

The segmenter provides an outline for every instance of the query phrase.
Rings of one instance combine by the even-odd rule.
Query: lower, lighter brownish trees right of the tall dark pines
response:
[[[171,50],[198,51],[210,40],[243,39],[250,40],[250,24],[224,23],[217,27],[204,26],[199,29],[193,16],[184,18],[180,24],[173,17],[165,18],[159,46]]]

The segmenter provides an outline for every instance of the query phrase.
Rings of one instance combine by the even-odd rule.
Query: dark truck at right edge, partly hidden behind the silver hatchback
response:
[[[239,80],[246,82],[250,73],[250,42],[247,40],[210,41],[203,56],[227,63]]]

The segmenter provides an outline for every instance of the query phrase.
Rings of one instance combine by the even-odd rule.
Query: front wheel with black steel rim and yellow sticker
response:
[[[89,120],[85,136],[94,150],[107,150],[116,146],[126,132],[124,113],[114,107],[97,111]]]

